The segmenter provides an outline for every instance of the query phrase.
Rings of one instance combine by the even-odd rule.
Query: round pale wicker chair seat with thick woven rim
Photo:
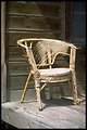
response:
[[[39,69],[41,82],[60,82],[67,81],[71,78],[70,68],[47,68]]]

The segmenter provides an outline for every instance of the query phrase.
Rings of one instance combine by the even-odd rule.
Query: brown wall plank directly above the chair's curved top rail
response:
[[[22,38],[55,38],[63,39],[62,30],[59,32],[39,32],[39,31],[9,31],[9,46],[17,46],[16,41]]]

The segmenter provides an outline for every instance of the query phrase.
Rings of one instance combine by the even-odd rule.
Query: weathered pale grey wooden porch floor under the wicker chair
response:
[[[42,112],[38,110],[36,101],[23,104],[18,102],[5,103],[2,104],[2,119],[17,128],[85,129],[86,115],[82,113],[82,110],[86,110],[84,105],[60,106],[59,102],[60,100],[54,104],[54,102],[48,101],[47,104],[50,107],[46,107]],[[61,103],[63,104],[63,102],[65,101],[62,100]]]

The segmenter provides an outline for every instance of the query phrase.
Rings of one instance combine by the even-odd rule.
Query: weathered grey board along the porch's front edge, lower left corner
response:
[[[16,107],[17,108],[17,107]],[[18,110],[18,109],[17,109]],[[20,109],[21,113],[24,113],[24,110]],[[22,116],[21,113],[16,113],[12,109],[3,109],[3,113],[5,114],[5,119],[4,117],[3,120],[9,122],[10,125],[13,125],[17,128],[51,128],[49,125],[46,123],[40,123],[38,122],[38,120],[34,120],[34,118],[36,118],[36,116],[33,117],[24,117],[24,115]],[[28,115],[26,112],[24,113],[26,114],[26,116]],[[8,116],[9,115],[9,116]],[[30,115],[30,114],[29,114]],[[3,115],[4,116],[4,115]],[[32,115],[30,115],[32,116]],[[24,118],[23,118],[24,117]],[[18,121],[16,120],[16,118],[18,119]],[[15,120],[15,121],[14,121]],[[34,121],[33,121],[34,120]]]

